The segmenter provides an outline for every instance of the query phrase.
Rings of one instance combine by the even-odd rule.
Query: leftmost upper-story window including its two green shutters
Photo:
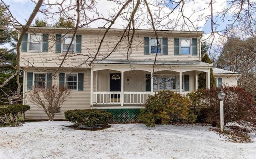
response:
[[[21,42],[21,51],[48,52],[48,34],[25,33]]]

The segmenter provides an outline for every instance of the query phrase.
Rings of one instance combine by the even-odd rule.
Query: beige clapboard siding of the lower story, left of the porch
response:
[[[65,119],[64,112],[67,110],[90,109],[90,70],[79,71],[77,73],[84,73],[84,90],[83,91],[72,90],[71,94],[66,98],[66,102],[64,102],[64,104],[62,104],[61,106],[62,113],[56,114],[54,117],[54,120]],[[27,81],[27,78],[25,80]],[[53,80],[53,83],[58,84],[58,78]],[[26,83],[24,88],[26,90]],[[29,94],[26,94],[26,96],[28,98],[24,100],[25,102],[24,104],[30,106],[30,110],[25,113],[26,120],[29,120],[29,119],[38,119],[38,120],[46,119],[47,120],[48,119],[47,115],[44,112],[42,112],[42,110],[40,110],[38,106],[36,106],[29,100]]]

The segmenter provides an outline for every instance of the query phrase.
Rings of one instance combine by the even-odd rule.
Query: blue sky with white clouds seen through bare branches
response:
[[[28,20],[30,14],[32,13],[32,10],[36,6],[36,4],[32,0],[3,0],[6,4],[10,5],[9,9],[12,12],[12,15],[21,23],[25,24],[26,20]],[[35,0],[36,1],[36,0]],[[176,0],[177,1],[177,0]],[[45,3],[62,3],[63,0],[45,0]],[[70,6],[72,3],[74,3],[75,0],[65,0],[63,2],[64,7]],[[84,0],[85,4],[90,4],[91,0]],[[161,3],[160,3],[161,2]],[[181,30],[182,28],[185,30],[190,30],[192,28],[192,25],[188,20],[180,17],[181,14],[184,14],[184,17],[188,18],[195,27],[198,27],[197,31],[204,31],[203,39],[208,40],[210,43],[212,42],[212,32],[211,32],[211,22],[210,22],[210,6],[209,2],[210,0],[185,0],[184,6],[182,10],[184,11],[181,13],[179,9],[173,9],[176,4],[166,4],[166,6],[169,7],[163,7],[162,6],[162,0],[148,0],[150,10],[152,11],[153,17],[160,17],[161,19],[156,22],[156,28],[159,30]],[[166,0],[165,2],[169,2]],[[136,3],[136,0],[134,0],[134,3]],[[216,23],[214,25],[214,31],[218,33],[214,33],[215,39],[214,43],[216,44],[218,42],[218,38],[220,38],[220,35],[222,34],[220,30],[224,29],[226,26],[226,22],[228,22],[228,18],[231,15],[228,13],[227,17],[225,18],[226,21],[222,21],[220,18],[216,18],[217,14],[221,12],[224,8],[228,6],[228,2],[226,0],[213,0],[213,17],[214,22]],[[97,12],[100,15],[104,15],[105,18],[108,17],[109,13],[113,14],[114,12],[117,12],[118,10],[114,9],[114,6],[117,6],[115,2],[112,2],[110,0],[94,0],[94,7],[92,10],[97,10]],[[131,6],[135,6],[135,4],[131,4]],[[160,7],[161,9],[159,10]],[[40,9],[48,9],[50,12],[55,12],[53,18],[50,18],[51,16],[45,16],[42,13],[38,13],[36,18],[44,19],[48,17],[48,24],[53,24],[58,20],[59,14],[56,13],[60,8],[58,6],[52,6],[51,8],[48,8],[48,6],[42,6]],[[120,8],[120,6],[119,6]],[[93,14],[92,12],[88,12],[90,9],[86,10],[86,15],[90,18],[95,18],[97,15]],[[90,10],[90,11],[92,11]],[[128,11],[128,10],[126,10]],[[170,14],[172,12],[172,14]],[[48,12],[49,13],[49,12]],[[147,16],[147,10],[145,5],[141,5],[140,11],[138,11],[138,20],[137,22],[140,24],[135,26],[138,29],[152,29],[152,26],[148,25],[148,18]],[[70,10],[68,14],[71,14],[72,17],[76,18],[75,8]],[[74,16],[73,16],[74,14]],[[164,18],[164,16],[170,14],[168,16],[169,18]],[[168,21],[169,19],[172,20],[172,22]],[[141,22],[143,20],[143,22]],[[183,22],[186,22],[186,25],[181,25]],[[103,23],[105,21],[99,20],[95,23],[89,24],[89,27],[104,27]],[[121,20],[120,18],[116,20],[115,24],[112,26],[112,28],[123,28],[123,25],[126,24],[124,20]],[[34,22],[32,22],[32,25]],[[81,23],[84,24],[84,23]],[[174,27],[175,25],[175,27]],[[167,27],[168,26],[168,27]],[[105,26],[107,27],[107,26]],[[195,31],[195,30],[193,30]]]

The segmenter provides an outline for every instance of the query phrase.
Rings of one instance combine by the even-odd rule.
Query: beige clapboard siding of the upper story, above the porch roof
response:
[[[42,30],[42,33],[43,32]],[[55,35],[58,34],[56,31],[54,33],[49,33],[49,50],[48,53],[41,52],[21,52],[20,65],[22,67],[26,66],[36,66],[36,67],[58,67],[63,59],[64,53],[55,53]],[[92,60],[97,52],[100,44],[100,40],[103,37],[103,33],[93,33],[93,32],[82,32],[78,33],[82,35],[82,53],[70,53],[69,57],[66,58],[63,67],[76,67],[80,64],[88,61],[82,67],[88,67],[88,63]],[[136,34],[131,46],[131,51],[128,52],[128,57],[133,60],[154,60],[155,55],[144,55],[144,37],[152,37],[154,34]],[[199,61],[200,60],[200,45],[198,43],[198,55],[179,55],[174,56],[174,38],[175,37],[190,37],[190,34],[180,34],[180,35],[164,35],[160,34],[160,37],[168,36],[168,55],[158,55],[157,60],[168,60],[168,61]],[[197,37],[192,37],[197,38]],[[111,51],[114,49],[117,41],[120,40],[120,33],[108,33],[102,43],[100,51],[97,58],[102,59],[107,57]],[[198,40],[199,42],[199,40]],[[127,58],[128,50],[128,40],[123,39],[117,49],[108,57],[108,59],[120,60]],[[88,57],[89,56],[89,57]],[[88,59],[89,58],[89,59]]]

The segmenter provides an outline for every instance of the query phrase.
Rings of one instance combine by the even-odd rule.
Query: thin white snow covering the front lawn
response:
[[[66,121],[0,128],[0,159],[255,159],[253,143],[232,143],[210,126],[112,124],[74,130]]]

